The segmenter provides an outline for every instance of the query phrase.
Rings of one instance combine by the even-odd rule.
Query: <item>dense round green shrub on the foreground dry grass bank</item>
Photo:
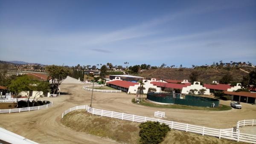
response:
[[[169,132],[170,128],[166,124],[147,121],[140,124],[140,143],[141,144],[159,144]]]

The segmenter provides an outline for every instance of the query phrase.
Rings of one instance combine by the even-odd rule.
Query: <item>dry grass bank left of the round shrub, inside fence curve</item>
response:
[[[100,117],[85,110],[70,112],[61,122],[73,130],[111,138],[120,143],[137,144],[140,139],[140,123]]]

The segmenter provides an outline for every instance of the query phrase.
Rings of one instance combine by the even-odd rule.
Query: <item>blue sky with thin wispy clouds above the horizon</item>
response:
[[[256,1],[0,0],[0,60],[256,64]]]

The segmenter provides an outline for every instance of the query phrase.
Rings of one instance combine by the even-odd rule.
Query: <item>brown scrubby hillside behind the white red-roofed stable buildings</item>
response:
[[[244,69],[247,72],[253,71],[255,68],[253,67],[239,67],[241,69]],[[172,80],[184,80],[189,79],[189,75],[191,74],[192,71],[198,71],[199,72],[199,77],[198,81],[201,81],[203,83],[212,83],[212,81],[217,81],[226,75],[227,73],[230,73],[233,75],[233,81],[236,82],[241,82],[242,78],[244,75],[248,75],[248,73],[240,70],[240,69],[171,69],[171,68],[163,68],[163,69],[149,69],[143,71],[140,76],[146,77],[146,78],[166,78],[166,79],[172,79]]]

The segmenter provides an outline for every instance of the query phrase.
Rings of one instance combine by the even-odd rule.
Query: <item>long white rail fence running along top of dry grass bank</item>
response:
[[[201,127],[201,126],[196,126],[196,125],[192,125],[192,124],[178,123],[175,121],[166,121],[166,120],[162,120],[162,119],[148,118],[148,117],[139,116],[139,115],[130,115],[130,114],[121,113],[121,112],[107,111],[107,110],[103,110],[103,109],[94,109],[94,108],[88,107],[87,105],[77,106],[77,107],[73,107],[73,108],[66,110],[64,113],[62,113],[62,118],[67,113],[77,110],[77,109],[86,109],[87,112],[92,113],[93,115],[107,116],[107,117],[111,117],[111,118],[119,118],[119,119],[128,120],[128,121],[136,121],[136,122],[158,121],[160,123],[169,125],[169,127],[171,129],[183,130],[186,132],[195,132],[195,133],[199,133],[202,135],[210,135],[210,136],[215,136],[218,138],[226,138],[226,139],[230,139],[230,140],[234,140],[234,141],[256,143],[256,135],[240,133],[239,131],[233,132],[232,128],[221,130],[221,129],[214,129],[214,128],[209,128],[209,127]]]

